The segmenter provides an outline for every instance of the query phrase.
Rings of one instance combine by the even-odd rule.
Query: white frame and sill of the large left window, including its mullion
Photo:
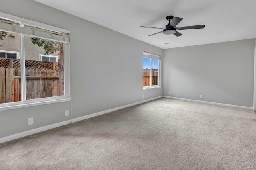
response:
[[[39,23],[36,21],[31,21],[31,20],[27,20],[24,18],[20,18],[17,16],[12,16],[9,14],[5,14],[0,12],[0,16],[2,18],[7,18],[7,19],[12,19],[13,21],[19,21],[20,22],[20,27],[22,27],[22,23],[26,23],[29,25],[36,25],[36,27],[41,27],[43,29],[48,29],[51,31],[58,31],[60,33],[66,33],[69,34],[70,31],[66,30],[66,29],[62,29],[62,28],[58,28],[58,27],[54,27],[51,25],[46,25],[43,23]],[[8,25],[7,25],[8,26]],[[12,32],[10,30],[6,30],[0,27],[1,31],[6,31],[6,32]],[[3,103],[0,104],[0,111],[3,110],[9,110],[9,109],[17,109],[17,108],[22,108],[22,107],[30,107],[30,106],[38,106],[38,105],[42,105],[42,104],[52,104],[52,103],[57,103],[57,102],[66,102],[66,101],[70,101],[70,64],[69,64],[69,56],[70,56],[70,51],[69,51],[69,43],[66,41],[66,37],[63,37],[64,40],[64,95],[62,96],[53,96],[53,97],[47,97],[47,98],[37,98],[37,99],[28,99],[26,100],[26,94],[25,94],[25,90],[26,87],[25,86],[25,47],[24,47],[24,35],[21,35],[21,55],[19,55],[19,58],[21,59],[21,64],[23,65],[22,69],[21,69],[21,89],[22,89],[22,101],[19,102],[10,102],[10,103]],[[66,36],[66,35],[65,35]]]

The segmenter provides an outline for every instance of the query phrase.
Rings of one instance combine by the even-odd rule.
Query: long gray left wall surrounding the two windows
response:
[[[32,0],[5,1],[0,11],[70,30],[72,89],[70,102],[1,111],[0,138],[162,95],[142,89],[143,51],[162,56],[162,49]]]

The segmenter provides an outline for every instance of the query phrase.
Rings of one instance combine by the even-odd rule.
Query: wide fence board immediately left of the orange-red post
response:
[[[14,69],[5,69],[6,103],[14,102]]]

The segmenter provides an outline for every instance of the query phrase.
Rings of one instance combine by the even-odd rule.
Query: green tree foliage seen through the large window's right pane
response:
[[[31,41],[33,44],[38,45],[38,47],[43,47],[45,50],[45,55],[54,54],[56,51],[60,51],[60,45],[62,45],[62,43],[57,41],[51,41],[37,37],[31,37]]]

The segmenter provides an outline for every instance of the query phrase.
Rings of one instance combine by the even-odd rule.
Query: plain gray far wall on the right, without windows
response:
[[[254,45],[247,39],[164,49],[163,95],[252,107]]]

